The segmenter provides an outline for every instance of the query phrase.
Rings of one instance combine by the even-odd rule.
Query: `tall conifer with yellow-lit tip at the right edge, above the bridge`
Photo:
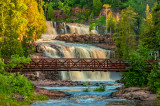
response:
[[[160,4],[156,3],[149,11],[149,6],[146,6],[146,18],[144,19],[143,30],[140,35],[140,40],[144,43],[148,49],[160,50]]]

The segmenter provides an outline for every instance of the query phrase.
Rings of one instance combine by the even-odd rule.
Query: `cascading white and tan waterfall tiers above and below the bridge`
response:
[[[51,25],[52,24],[52,25]],[[55,24],[55,23],[54,23]],[[88,27],[83,27],[80,25],[69,25],[67,24],[71,33],[77,31],[78,34],[89,33]],[[47,22],[48,33],[52,32],[53,35],[56,34],[55,28],[52,22]],[[51,31],[50,31],[51,30]],[[54,32],[54,33],[53,33]],[[45,34],[42,38],[47,38],[49,35]],[[57,35],[56,35],[57,36]],[[51,39],[50,36],[47,39]],[[50,58],[110,58],[110,50],[101,49],[89,44],[77,44],[77,43],[65,43],[63,41],[50,40],[43,41],[39,40],[37,43],[41,44],[41,48],[44,50],[44,55]],[[87,81],[87,80],[118,80],[121,76],[115,72],[61,72],[62,80],[77,80],[77,81]]]

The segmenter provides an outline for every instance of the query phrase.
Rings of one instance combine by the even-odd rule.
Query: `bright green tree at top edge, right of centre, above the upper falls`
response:
[[[103,4],[100,0],[93,0],[93,13],[94,15],[99,15],[99,12],[101,11]]]

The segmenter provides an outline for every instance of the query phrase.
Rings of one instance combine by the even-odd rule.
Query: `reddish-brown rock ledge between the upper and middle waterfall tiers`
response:
[[[100,34],[93,34],[92,36],[88,34],[84,35],[64,34],[57,36],[55,39],[72,43],[79,42],[79,43],[94,44],[95,46],[98,45],[99,47],[103,45],[102,48],[105,47],[105,49],[114,49],[115,44],[111,36],[112,35],[110,34],[106,34],[104,36]]]

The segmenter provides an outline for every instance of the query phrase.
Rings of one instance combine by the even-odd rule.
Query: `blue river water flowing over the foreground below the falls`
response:
[[[110,95],[113,92],[116,92],[117,88],[122,86],[122,84],[116,83],[115,81],[91,81],[85,83],[103,83],[104,85],[106,85],[106,91],[93,91],[98,87],[95,85],[71,87],[40,87],[54,91],[63,91],[71,95],[68,97],[61,97],[59,99],[50,99],[48,101],[37,101],[30,106],[146,106],[146,104],[141,104],[140,102],[111,97]],[[89,92],[83,92],[83,90],[85,89],[89,89]],[[150,105],[148,104],[148,106]]]

